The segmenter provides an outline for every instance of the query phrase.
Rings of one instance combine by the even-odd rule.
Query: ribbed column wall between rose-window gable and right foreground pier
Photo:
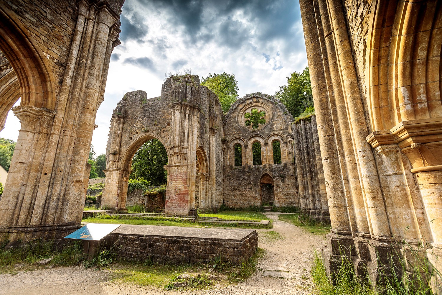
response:
[[[330,222],[316,116],[293,124],[300,213]]]

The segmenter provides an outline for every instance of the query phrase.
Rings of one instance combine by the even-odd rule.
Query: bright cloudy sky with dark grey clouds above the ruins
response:
[[[110,115],[124,93],[160,96],[166,73],[235,74],[239,96],[273,95],[307,65],[297,0],[126,0],[92,145],[104,153]],[[16,140],[10,113],[1,137]]]

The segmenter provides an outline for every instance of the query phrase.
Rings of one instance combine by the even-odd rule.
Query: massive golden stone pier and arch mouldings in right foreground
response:
[[[332,226],[328,271],[339,242],[379,282],[392,252],[409,254],[392,251],[403,240],[441,271],[442,3],[301,0],[301,15]]]

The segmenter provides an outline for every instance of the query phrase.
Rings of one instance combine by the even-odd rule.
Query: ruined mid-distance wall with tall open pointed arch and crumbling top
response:
[[[126,208],[127,183],[133,155],[151,138],[168,152],[166,214],[194,215],[222,203],[221,105],[217,96],[199,85],[198,76],[172,76],[161,96],[128,92],[110,123],[106,148],[106,187],[103,205]],[[198,158],[198,160],[197,160]],[[195,202],[196,163],[199,167]]]

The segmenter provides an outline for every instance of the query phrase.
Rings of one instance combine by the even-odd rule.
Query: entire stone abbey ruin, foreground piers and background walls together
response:
[[[1,126],[21,98],[0,199],[0,237],[11,244],[80,227],[122,4],[0,3]],[[381,283],[392,253],[407,258],[411,248],[442,271],[441,1],[300,5],[316,116],[292,124],[281,103],[260,93],[223,116],[196,76],[171,77],[160,98],[130,92],[112,116],[103,202],[125,208],[133,153],[158,138],[169,156],[171,214],[223,201],[296,205],[331,222],[322,251],[328,273],[345,255]]]

